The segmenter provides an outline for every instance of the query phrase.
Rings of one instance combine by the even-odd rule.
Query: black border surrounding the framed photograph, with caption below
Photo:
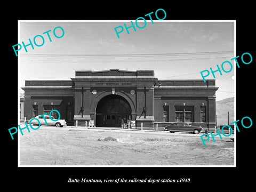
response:
[[[22,4],[22,5],[19,5]],[[254,107],[254,65],[255,65],[255,32],[254,32],[254,13],[253,4],[239,2],[181,2],[181,3],[162,3],[157,5],[155,2],[147,2],[139,6],[132,2],[108,2],[103,5],[87,4],[86,2],[52,2],[38,4],[24,4],[15,2],[9,7],[9,12],[5,13],[4,20],[4,59],[2,71],[6,76],[2,78],[2,102],[4,103],[3,122],[1,129],[4,138],[2,156],[2,166],[4,168],[4,186],[31,188],[31,189],[52,189],[57,187],[87,187],[89,183],[68,183],[68,178],[94,178],[94,179],[178,179],[190,178],[189,183],[135,183],[142,187],[169,186],[189,187],[190,189],[209,190],[211,188],[231,189],[235,186],[246,185],[249,187],[253,183],[253,138],[255,134],[255,114],[252,113]],[[251,53],[253,57],[250,65],[240,65],[236,68],[236,119],[244,116],[252,118],[253,126],[250,129],[240,129],[237,133],[236,162],[237,167],[18,167],[18,137],[14,136],[11,140],[7,131],[12,126],[17,126],[17,106],[18,106],[18,60],[13,53],[12,45],[18,43],[18,20],[134,20],[142,17],[157,9],[164,9],[167,17],[165,20],[236,20],[236,55],[244,52]],[[6,37],[7,36],[7,37]],[[7,54],[6,54],[7,53]],[[6,57],[7,56],[7,57]],[[239,60],[241,63],[241,59]],[[217,63],[218,64],[218,63]],[[238,123],[241,127],[241,124]],[[213,157],[214,158],[214,157]],[[93,184],[93,189],[98,187],[123,187],[134,186],[134,183],[102,183]],[[35,186],[35,187],[32,187]],[[212,187],[211,187],[212,186]],[[191,188],[192,187],[192,188]],[[169,190],[170,188],[166,188]],[[67,188],[66,188],[67,189]],[[18,189],[19,190],[19,189]]]

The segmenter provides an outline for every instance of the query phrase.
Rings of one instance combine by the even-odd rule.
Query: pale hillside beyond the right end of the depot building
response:
[[[229,111],[229,124],[234,122],[235,114],[235,98],[227,98],[220,101],[216,101],[216,115],[217,125],[228,124],[228,111]]]

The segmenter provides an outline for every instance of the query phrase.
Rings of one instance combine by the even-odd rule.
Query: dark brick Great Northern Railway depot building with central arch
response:
[[[71,80],[25,81],[22,89],[27,120],[57,109],[68,125],[77,126],[121,127],[122,119],[137,129],[141,123],[143,129],[173,122],[215,126],[215,79],[159,80],[153,70],[79,70]]]

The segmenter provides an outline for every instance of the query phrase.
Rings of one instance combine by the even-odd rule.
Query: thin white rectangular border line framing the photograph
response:
[[[18,42],[20,42],[20,22],[135,22],[135,20],[18,20]],[[143,22],[143,20],[138,20]],[[146,20],[151,21],[151,20]],[[154,22],[234,22],[234,57],[236,57],[236,20],[153,20]],[[231,58],[230,58],[231,59]],[[234,61],[235,62],[235,61]],[[236,63],[234,63],[236,66]],[[234,67],[234,119],[236,119],[236,67]],[[20,57],[18,54],[18,123],[20,123]],[[17,127],[18,128],[18,127]],[[18,167],[236,167],[236,129],[234,129],[234,165],[20,165],[20,134],[18,133]],[[19,131],[18,131],[19,132]],[[213,157],[214,158],[214,157]]]

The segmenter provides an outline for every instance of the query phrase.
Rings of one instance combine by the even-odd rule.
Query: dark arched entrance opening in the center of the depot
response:
[[[97,127],[121,127],[131,119],[131,106],[129,102],[120,95],[107,95],[103,97],[96,108],[95,125]]]

